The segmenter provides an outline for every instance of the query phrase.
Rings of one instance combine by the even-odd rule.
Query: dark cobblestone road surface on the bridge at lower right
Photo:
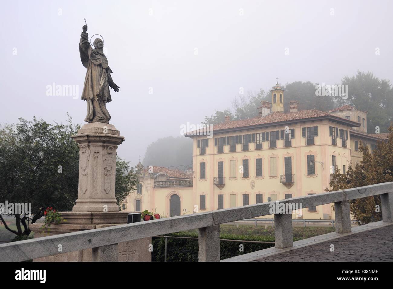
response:
[[[331,244],[334,252],[330,251]],[[393,261],[393,225],[305,246],[255,261]]]

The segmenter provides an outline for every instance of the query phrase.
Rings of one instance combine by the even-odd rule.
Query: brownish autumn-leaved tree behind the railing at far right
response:
[[[378,142],[376,150],[371,154],[367,147],[361,145],[359,150],[363,153],[363,159],[353,168],[348,167],[346,174],[340,174],[336,168],[330,182],[331,190],[338,191],[383,182],[393,181],[393,126],[389,127],[389,138],[387,142]],[[358,223],[366,224],[381,220],[380,211],[376,211],[376,205],[381,206],[380,196],[365,197],[351,201],[351,214]]]

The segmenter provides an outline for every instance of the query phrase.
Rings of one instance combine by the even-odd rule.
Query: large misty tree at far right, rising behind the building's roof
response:
[[[385,133],[393,120],[393,91],[390,81],[378,79],[372,72],[360,72],[342,79],[348,85],[348,98],[337,98],[338,106],[349,104],[367,114],[367,131],[375,133],[375,127]]]

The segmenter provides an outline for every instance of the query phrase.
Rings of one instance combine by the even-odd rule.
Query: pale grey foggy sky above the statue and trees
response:
[[[393,79],[392,11],[391,1],[3,2],[0,123],[65,122],[66,112],[84,123],[83,18],[89,39],[104,38],[120,87],[110,123],[125,136],[118,155],[135,165],[151,142],[229,108],[239,87],[267,91],[276,76],[332,85],[357,70]],[[47,96],[52,83],[79,95]]]

